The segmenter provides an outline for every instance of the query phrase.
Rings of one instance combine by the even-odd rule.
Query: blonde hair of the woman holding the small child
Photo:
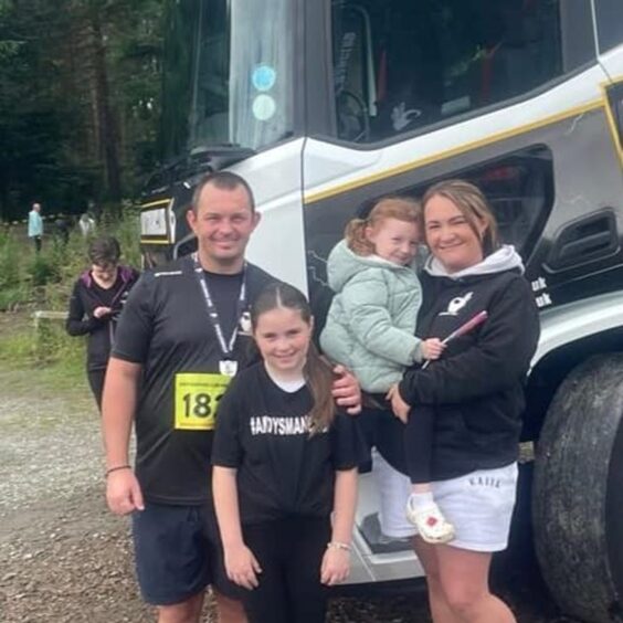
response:
[[[444,197],[452,201],[467,220],[469,228],[481,240],[483,254],[486,257],[499,249],[497,222],[492,212],[488,201],[483,191],[473,183],[465,180],[445,180],[433,184],[422,198],[422,229],[426,232],[426,203],[433,197]],[[477,223],[485,224],[485,231],[481,234]]]

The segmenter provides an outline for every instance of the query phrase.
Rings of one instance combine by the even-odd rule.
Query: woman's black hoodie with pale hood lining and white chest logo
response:
[[[451,340],[442,358],[405,372],[402,398],[432,409],[432,476],[453,478],[516,461],[524,383],[539,338],[539,318],[519,256],[510,246],[448,275],[429,261],[418,335],[445,338],[479,312],[487,319]]]

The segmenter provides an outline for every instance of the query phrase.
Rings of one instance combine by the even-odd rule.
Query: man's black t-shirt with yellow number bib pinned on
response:
[[[220,320],[229,340],[231,318],[228,323],[224,310],[237,307],[241,275],[208,278],[214,305],[219,313],[223,309]],[[249,264],[246,307],[273,281]],[[239,331],[233,358],[240,368],[253,352],[249,334]],[[142,276],[119,319],[112,355],[142,366],[135,425],[136,474],[145,498],[177,505],[209,500],[214,403],[224,391],[219,374],[223,356],[190,257]]]

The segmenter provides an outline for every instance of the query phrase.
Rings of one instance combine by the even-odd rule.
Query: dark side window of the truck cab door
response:
[[[332,0],[338,137],[395,139],[588,62],[562,0]],[[567,35],[569,36],[569,35]]]

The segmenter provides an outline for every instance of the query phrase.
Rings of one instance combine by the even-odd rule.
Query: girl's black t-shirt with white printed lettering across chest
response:
[[[310,435],[312,406],[306,386],[284,391],[263,362],[241,372],[221,400],[212,464],[237,469],[242,524],[330,514],[335,472],[358,466],[365,444],[357,419],[341,412]]]

